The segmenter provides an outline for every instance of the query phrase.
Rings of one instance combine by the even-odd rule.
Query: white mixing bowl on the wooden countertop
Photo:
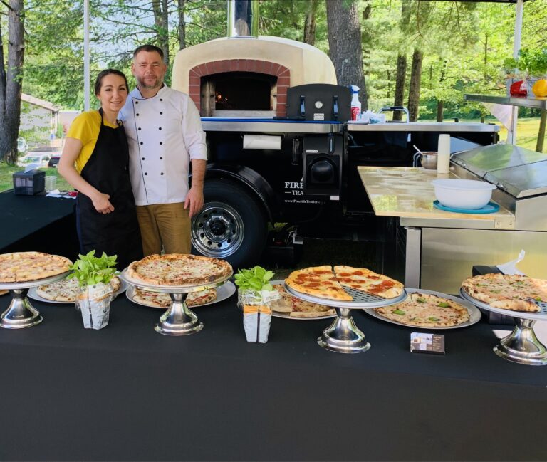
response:
[[[494,184],[474,179],[434,179],[435,197],[442,205],[453,209],[481,209],[489,203]]]

